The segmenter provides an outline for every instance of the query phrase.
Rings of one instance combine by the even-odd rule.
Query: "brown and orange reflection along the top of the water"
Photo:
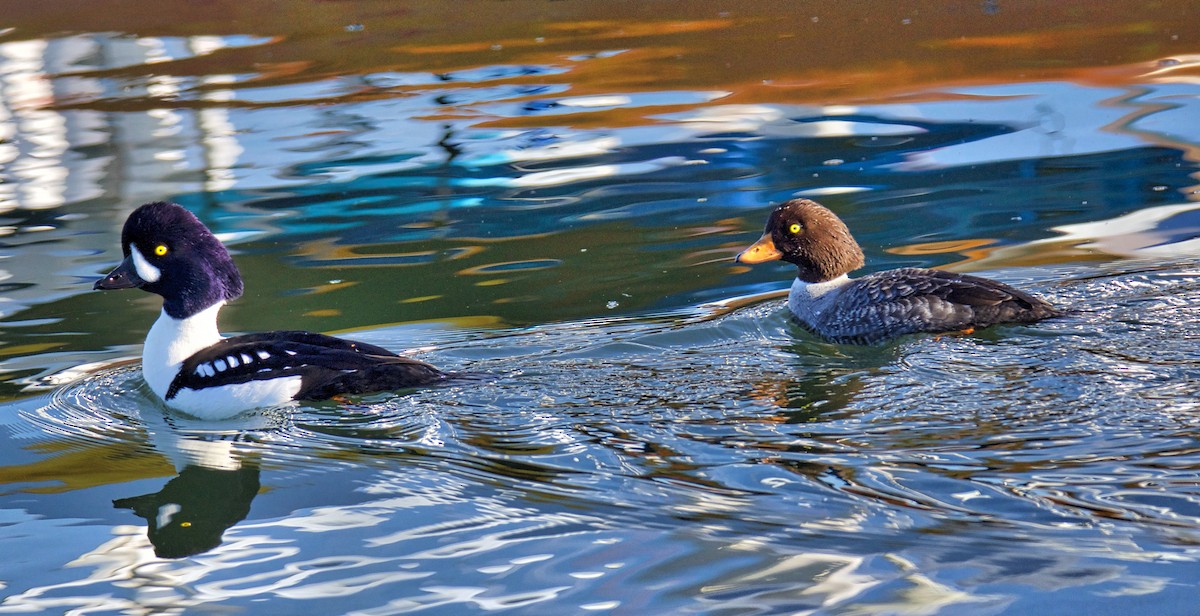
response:
[[[248,35],[256,44],[220,48],[154,65],[60,77],[142,82],[163,76],[245,76],[235,90],[337,79],[326,102],[404,96],[437,89],[349,84],[348,76],[432,74],[488,65],[571,66],[571,92],[726,90],[722,102],[853,102],[929,96],[946,85],[1069,79],[1124,84],[1158,60],[1194,53],[1200,10],[1187,0],[1040,2],[547,2],[162,1],[13,2],[0,41],[77,32],[131,37]],[[600,62],[568,58],[628,50]],[[1194,74],[1194,71],[1192,71]],[[510,78],[541,83],[544,76]],[[172,97],[178,107],[292,104],[205,100],[208,83]],[[133,110],[155,96],[74,92],[37,106]],[[636,114],[636,115],[632,115]],[[576,121],[642,122],[636,109]],[[520,122],[529,124],[523,119]]]

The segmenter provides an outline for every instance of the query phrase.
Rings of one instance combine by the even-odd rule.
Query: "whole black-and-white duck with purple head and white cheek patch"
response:
[[[223,337],[217,312],[242,292],[229,252],[192,213],[148,203],[121,231],[125,261],[97,289],[162,295],[142,351],[142,373],[167,403],[200,419],[292,400],[323,400],[431,384],[438,369],[385,348],[310,331]]]

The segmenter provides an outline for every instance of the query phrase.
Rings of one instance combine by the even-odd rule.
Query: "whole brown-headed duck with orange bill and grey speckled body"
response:
[[[833,342],[875,343],[918,331],[973,331],[995,323],[1031,323],[1062,315],[1002,282],[922,268],[860,279],[863,251],[833,211],[792,199],[767,219],[762,238],[739,263],[782,259],[797,268],[787,307],[806,329]]]

